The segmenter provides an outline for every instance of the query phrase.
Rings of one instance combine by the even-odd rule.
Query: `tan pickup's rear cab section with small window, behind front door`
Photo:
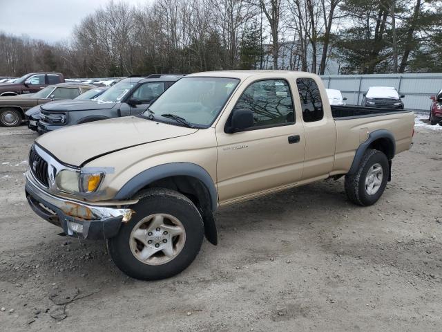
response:
[[[332,172],[336,149],[336,124],[328,106],[327,95],[321,95],[318,83],[311,77],[296,79],[300,109],[305,129],[305,158],[302,180],[324,178]],[[325,101],[325,105],[323,104]]]

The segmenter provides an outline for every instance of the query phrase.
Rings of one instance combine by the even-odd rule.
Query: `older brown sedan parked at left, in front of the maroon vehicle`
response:
[[[0,125],[17,127],[26,118],[25,112],[31,107],[51,100],[73,99],[94,87],[90,84],[60,83],[46,86],[37,93],[0,97]]]

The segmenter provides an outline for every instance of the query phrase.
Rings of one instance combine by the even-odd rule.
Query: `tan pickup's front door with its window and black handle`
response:
[[[236,109],[253,112],[253,126],[226,133],[217,126],[220,204],[246,199],[302,178],[305,135],[286,80],[260,80],[242,93]]]

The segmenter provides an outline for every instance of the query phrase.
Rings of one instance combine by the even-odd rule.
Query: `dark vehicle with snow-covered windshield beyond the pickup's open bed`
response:
[[[403,109],[403,102],[396,88],[392,86],[372,86],[364,93],[362,99],[363,107],[376,107],[387,109]]]

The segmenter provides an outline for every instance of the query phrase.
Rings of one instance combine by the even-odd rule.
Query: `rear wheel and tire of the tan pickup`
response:
[[[389,173],[387,156],[383,152],[372,149],[365,151],[357,172],[345,176],[348,199],[356,205],[373,205],[382,196]],[[373,175],[372,178],[369,178],[370,175]]]

